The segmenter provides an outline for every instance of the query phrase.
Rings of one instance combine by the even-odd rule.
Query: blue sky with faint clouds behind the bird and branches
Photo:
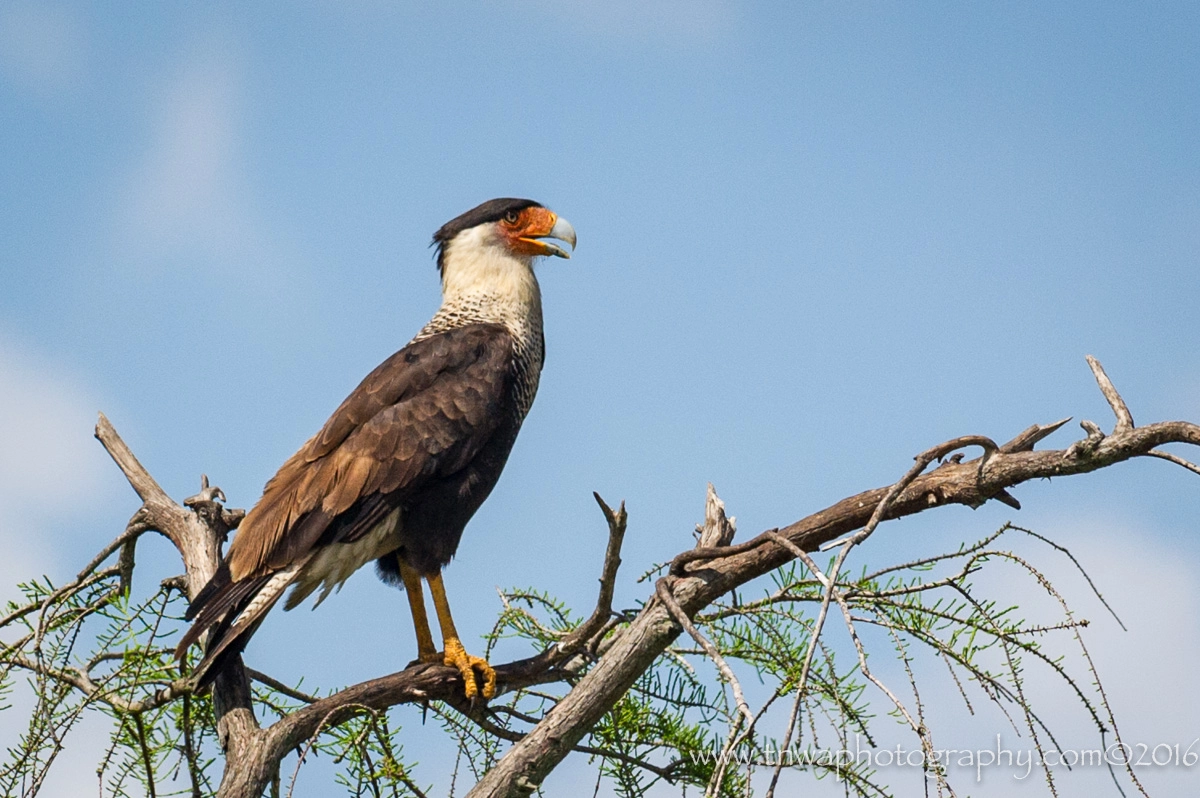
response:
[[[1110,425],[1085,354],[1135,420],[1200,420],[1198,80],[1188,4],[5,4],[0,576],[73,572],[136,509],[96,410],[173,496],[205,472],[251,505],[437,307],[432,232],[494,196],[580,246],[540,269],[540,395],[446,575],[467,636],[496,586],[589,606],[593,490],[629,503],[630,604],[706,481],[749,535],[946,438]],[[1076,594],[1134,737],[1190,742],[1195,475],[1015,493],[858,556],[1009,518],[1070,545],[1132,626]],[[178,568],[142,550],[148,584]],[[409,625],[362,574],[250,655],[336,685],[407,662]]]

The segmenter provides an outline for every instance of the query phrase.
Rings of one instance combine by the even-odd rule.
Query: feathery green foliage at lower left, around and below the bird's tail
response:
[[[212,702],[190,692],[173,655],[187,605],[178,588],[163,586],[136,601],[112,566],[60,588],[38,580],[20,589],[23,599],[0,619],[0,695],[25,686],[35,703],[28,730],[0,766],[0,794],[36,794],[88,712],[112,721],[97,763],[101,794],[215,794],[221,767]],[[254,685],[265,719],[302,706],[296,696],[302,694]],[[306,752],[338,763],[337,782],[352,796],[422,796],[397,734],[385,714],[362,713],[323,728]]]

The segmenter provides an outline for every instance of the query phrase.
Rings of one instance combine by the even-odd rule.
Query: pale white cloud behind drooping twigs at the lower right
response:
[[[1073,518],[1043,522],[1037,530],[1075,554],[1128,628],[1128,631],[1121,629],[1066,557],[1049,548],[1009,540],[1010,545],[1018,546],[1018,553],[1050,578],[1072,606],[1076,619],[1090,622],[1082,634],[1084,643],[1096,664],[1122,739],[1132,745],[1146,744],[1151,751],[1158,744],[1174,746],[1178,743],[1181,750],[1187,749],[1200,736],[1195,725],[1195,718],[1200,718],[1200,686],[1193,678],[1194,664],[1200,658],[1200,618],[1194,612],[1195,596],[1200,594],[1200,562],[1169,546],[1162,530],[1138,523]],[[1034,581],[1015,577],[1015,569],[997,568],[995,560],[989,570],[990,574],[984,571],[974,580],[982,595],[997,599],[1002,606],[1018,605],[1018,616],[1031,623],[1052,622],[1058,617],[1057,602],[1046,596]],[[1096,701],[1093,679],[1078,646],[1064,635],[1046,636],[1040,642],[1048,653],[1066,655],[1068,672]],[[1070,689],[1032,658],[1024,658],[1024,665],[1026,695],[1054,731],[1062,749],[1098,748],[1096,726]],[[931,677],[944,678],[944,673],[931,673]],[[1027,737],[1018,738],[1008,722],[991,708],[982,709],[977,702],[978,714],[966,715],[961,701],[955,697],[956,690],[953,685],[946,688],[944,691],[934,691],[930,702],[935,708],[934,716],[941,719],[931,724],[938,748],[994,748],[997,732],[1002,734],[1006,748],[1032,748]],[[968,694],[973,696],[972,701],[977,701],[977,690],[968,688]],[[1108,724],[1103,708],[1100,718]],[[1021,725],[1018,719],[1018,726]],[[1112,742],[1111,736],[1108,742]],[[1193,750],[1200,751],[1200,744]],[[1194,794],[1196,768],[1145,767],[1138,768],[1136,774],[1150,794],[1158,798]],[[1037,773],[1019,782],[1013,780],[1013,773],[1007,768],[985,770],[980,785],[973,784],[973,774],[966,780],[961,773],[959,776],[956,788],[960,793],[974,796],[1044,790]],[[1076,768],[1074,772],[1057,768],[1055,778],[1060,794],[1112,790],[1111,778],[1103,768]]]

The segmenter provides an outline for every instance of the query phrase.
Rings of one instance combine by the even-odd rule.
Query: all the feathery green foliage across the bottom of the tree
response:
[[[1111,728],[1082,642],[1085,679],[1044,648],[1056,632],[1078,641],[1086,622],[1075,620],[1039,570],[997,545],[1018,533],[1044,541],[1004,527],[956,552],[842,574],[834,593],[823,575],[796,562],[761,588],[713,604],[694,623],[748,685],[752,721],[720,668],[684,634],[578,746],[595,763],[598,786],[607,782],[622,798],[638,798],[668,782],[680,791],[732,798],[763,790],[788,768],[836,778],[847,794],[887,794],[869,767],[805,752],[850,749],[856,736],[874,745],[887,716],[932,750],[922,703],[931,678],[929,660],[940,662],[935,684],[953,684],[972,712],[980,697],[998,704],[1039,748],[1044,740],[1056,743],[1024,692],[1025,668],[1032,664],[1063,679],[1102,733]],[[1001,566],[1015,568],[1056,601],[1058,617],[1034,623],[1021,617],[1020,607],[979,595],[972,578],[984,568]],[[35,696],[29,727],[0,766],[0,794],[35,794],[86,712],[112,721],[97,769],[103,796],[215,793],[220,750],[211,701],[190,692],[172,655],[185,599],[168,581],[134,600],[127,571],[113,565],[59,588],[44,580],[23,584],[23,600],[10,604],[0,618],[0,698],[11,701],[22,678]],[[545,593],[511,590],[503,601],[487,636],[488,653],[502,640],[541,650],[580,624],[569,607]],[[827,620],[814,642],[823,605]],[[562,700],[638,610],[613,613],[605,638],[568,661],[558,683],[508,692],[487,707],[431,703],[427,712],[457,745],[458,769],[480,778]],[[888,677],[895,682],[899,671],[900,688],[871,672],[870,655],[880,650],[881,661],[899,664]],[[299,688],[256,678],[254,702],[266,722],[314,700]],[[362,707],[349,720],[322,727],[302,746],[294,770],[275,779],[271,794],[307,792],[298,787],[301,766],[320,756],[337,766],[336,781],[350,796],[421,798],[425,790],[416,764],[404,758],[401,732],[395,715]],[[931,769],[928,775],[946,786],[944,773]],[[1052,790],[1051,774],[1045,776]]]

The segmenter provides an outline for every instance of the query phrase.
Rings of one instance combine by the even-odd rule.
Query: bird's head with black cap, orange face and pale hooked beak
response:
[[[485,280],[487,274],[512,265],[528,270],[539,256],[570,258],[563,247],[575,248],[575,228],[558,214],[532,199],[490,199],[443,224],[433,234],[438,270],[445,283],[457,277]],[[480,272],[478,275],[467,272]]]

